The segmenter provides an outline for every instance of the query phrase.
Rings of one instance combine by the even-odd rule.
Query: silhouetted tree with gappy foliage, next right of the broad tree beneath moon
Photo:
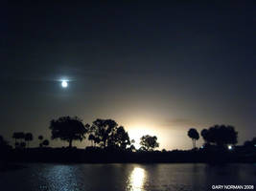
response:
[[[94,142],[105,148],[111,141],[113,133],[118,124],[112,119],[96,119],[92,122],[91,131],[93,132]]]

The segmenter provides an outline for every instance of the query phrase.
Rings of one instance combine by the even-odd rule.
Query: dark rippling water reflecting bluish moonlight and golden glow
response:
[[[256,164],[24,164],[0,172],[3,191],[207,191],[254,184]],[[256,189],[254,189],[256,190]]]

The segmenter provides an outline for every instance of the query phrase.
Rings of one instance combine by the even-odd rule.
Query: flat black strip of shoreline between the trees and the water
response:
[[[192,150],[170,152],[131,152],[89,147],[12,149],[2,155],[2,160],[14,162],[256,162],[256,147],[252,150]]]

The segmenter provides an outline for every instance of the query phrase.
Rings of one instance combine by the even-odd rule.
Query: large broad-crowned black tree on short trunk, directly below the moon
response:
[[[88,125],[86,125],[88,127]],[[72,147],[73,140],[82,140],[88,129],[82,124],[79,117],[59,117],[50,122],[52,139],[60,138],[68,141],[69,147]]]

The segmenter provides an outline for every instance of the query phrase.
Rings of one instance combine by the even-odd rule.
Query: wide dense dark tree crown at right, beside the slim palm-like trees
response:
[[[202,138],[208,142],[218,146],[226,146],[227,144],[236,144],[238,142],[238,132],[231,125],[215,125],[208,130],[201,131]]]

